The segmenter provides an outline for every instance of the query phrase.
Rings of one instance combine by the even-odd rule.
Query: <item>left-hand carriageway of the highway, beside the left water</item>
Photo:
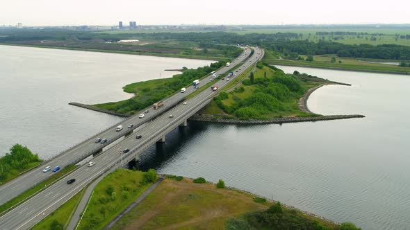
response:
[[[233,62],[231,62],[230,67],[222,67],[221,69],[216,71],[216,74],[224,74],[225,72],[229,71],[229,69],[231,69],[235,64],[243,62],[243,60],[245,60],[249,56],[249,54],[249,48],[245,47],[243,53],[235,60],[233,60]],[[211,76],[207,76],[206,78],[204,78],[204,80],[201,80],[201,82],[207,82],[209,81],[209,78],[211,78]],[[90,139],[84,141],[83,143],[74,146],[74,148],[65,151],[64,154],[60,154],[58,155],[58,157],[51,159],[51,161],[44,163],[42,167],[34,168],[33,170],[30,170],[23,175],[20,175],[19,177],[13,179],[12,181],[3,184],[2,186],[0,186],[0,205],[4,204],[8,200],[13,199],[17,195],[28,190],[28,188],[33,187],[35,184],[44,181],[44,179],[47,179],[47,177],[52,175],[51,171],[45,173],[42,172],[42,169],[45,166],[51,166],[52,168],[60,166],[60,168],[64,168],[69,164],[79,162],[80,159],[84,159],[85,157],[90,156],[93,152],[99,152],[99,150],[101,150],[108,144],[113,143],[113,141],[120,138],[120,136],[123,136],[124,133],[128,132],[128,125],[133,124],[135,129],[143,123],[150,121],[152,118],[155,118],[156,116],[158,116],[158,114],[163,113],[166,109],[169,109],[170,107],[176,105],[181,100],[183,100],[185,96],[191,94],[195,90],[196,89],[194,89],[194,87],[190,86],[186,88],[186,93],[177,93],[170,96],[169,98],[166,98],[165,100],[163,100],[164,106],[158,110],[154,110],[152,107],[142,109],[140,113],[143,113],[145,110],[149,110],[149,113],[145,114],[144,118],[138,118],[139,114],[131,116],[125,121],[113,125],[113,127],[110,127],[107,130],[104,130],[103,132],[92,136]],[[121,132],[115,132],[115,127],[117,125],[122,125],[124,127]],[[97,137],[108,139],[108,142],[104,145],[101,145],[100,143],[94,143]]]

